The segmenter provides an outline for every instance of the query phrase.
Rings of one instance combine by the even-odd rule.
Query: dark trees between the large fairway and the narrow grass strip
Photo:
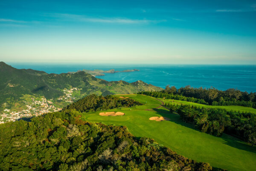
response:
[[[256,114],[227,111],[226,109],[200,108],[189,105],[166,104],[177,112],[183,121],[192,123],[202,132],[221,136],[222,133],[239,137],[256,144]]]

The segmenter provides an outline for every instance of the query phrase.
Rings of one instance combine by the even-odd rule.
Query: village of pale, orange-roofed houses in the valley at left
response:
[[[67,103],[73,103],[73,100],[76,98],[73,97],[73,91],[80,90],[78,88],[64,89],[64,95],[58,98],[59,101],[64,101]],[[10,109],[4,109],[3,113],[0,115],[0,124],[6,123],[9,121],[16,121],[21,118],[32,118],[35,116],[43,115],[49,112],[57,112],[62,108],[55,107],[53,104],[53,99],[41,98],[40,100],[36,100],[35,98],[31,98],[31,102],[28,103],[25,101],[26,108],[20,111],[11,111]]]

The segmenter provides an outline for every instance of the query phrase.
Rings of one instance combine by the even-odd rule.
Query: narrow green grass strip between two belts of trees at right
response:
[[[161,99],[161,98],[159,98]],[[168,102],[173,103],[175,105],[180,105],[180,104],[186,104],[186,105],[193,105],[193,106],[198,106],[198,107],[206,107],[206,108],[219,108],[219,109],[226,109],[228,111],[233,110],[233,111],[240,111],[240,112],[251,112],[251,113],[256,113],[256,109],[252,107],[243,107],[243,106],[211,106],[211,105],[205,105],[205,104],[198,104],[198,103],[193,103],[189,101],[180,101],[180,100],[171,100],[171,99],[161,99],[165,103],[168,104]]]

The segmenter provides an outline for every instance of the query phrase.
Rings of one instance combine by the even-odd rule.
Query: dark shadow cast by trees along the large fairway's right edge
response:
[[[162,115],[163,117],[170,118],[171,122],[174,122],[176,124],[179,124],[181,126],[186,126],[187,128],[194,129],[198,132],[201,132],[199,129],[196,129],[195,126],[193,126],[191,123],[186,123],[180,119],[180,116],[174,113],[171,113],[164,109],[154,109],[154,111],[157,112],[157,114]],[[207,133],[204,133],[207,134]],[[212,135],[213,136],[213,135]],[[244,150],[244,151],[249,151],[252,153],[256,153],[256,147],[250,146],[246,142],[243,142],[242,140],[239,140],[236,137],[232,137],[227,134],[223,134],[221,137],[219,137],[224,140],[224,144],[234,147],[236,149]]]

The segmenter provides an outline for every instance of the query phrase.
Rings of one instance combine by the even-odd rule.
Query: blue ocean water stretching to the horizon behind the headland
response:
[[[130,73],[105,73],[97,76],[107,81],[124,80],[134,82],[142,80],[164,88],[166,85],[177,88],[190,85],[192,87],[218,90],[237,88],[241,91],[256,92],[256,65],[141,65],[141,64],[39,64],[7,62],[18,69],[43,70],[47,73],[67,73],[82,69],[126,70],[139,69]]]

